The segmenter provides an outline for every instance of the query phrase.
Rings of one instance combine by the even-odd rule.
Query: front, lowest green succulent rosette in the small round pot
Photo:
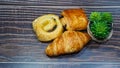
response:
[[[94,22],[90,26],[90,30],[97,39],[107,38],[110,33],[110,27],[105,22]]]

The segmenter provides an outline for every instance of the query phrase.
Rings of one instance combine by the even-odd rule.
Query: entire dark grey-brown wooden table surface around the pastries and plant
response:
[[[102,44],[90,41],[77,54],[50,58],[44,53],[49,43],[37,40],[32,29],[32,21],[44,14],[60,15],[62,10],[70,8],[83,8],[88,17],[92,11],[112,13],[113,35],[109,41]],[[119,26],[120,0],[0,0],[0,62],[4,63],[0,64],[0,68],[9,68],[6,64],[11,68],[15,67],[14,65],[23,65],[23,68],[27,65],[119,68]]]

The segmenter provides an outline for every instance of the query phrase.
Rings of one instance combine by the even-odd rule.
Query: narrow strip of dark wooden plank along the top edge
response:
[[[119,6],[120,0],[0,0],[1,5]]]

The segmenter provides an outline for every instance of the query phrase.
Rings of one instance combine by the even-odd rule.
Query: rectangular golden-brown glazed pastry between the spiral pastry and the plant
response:
[[[67,30],[85,30],[88,19],[83,9],[67,9],[62,12],[61,23]]]

